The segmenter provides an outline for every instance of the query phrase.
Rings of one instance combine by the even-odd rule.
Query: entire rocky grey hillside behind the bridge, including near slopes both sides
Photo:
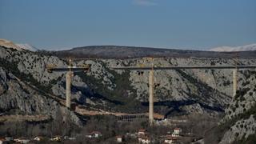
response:
[[[57,54],[57,56],[59,56]],[[66,109],[66,75],[48,73],[46,66],[67,66],[66,59],[53,54],[0,47],[0,112],[2,114],[47,115],[78,126],[82,117]],[[234,65],[233,58],[154,58],[156,66]],[[72,102],[86,110],[144,113],[148,110],[148,72],[110,70],[111,66],[150,66],[146,58],[78,59],[74,66],[91,64],[90,72],[75,73]],[[255,58],[240,58],[239,65],[256,65]],[[238,92],[232,98],[231,70],[155,71],[154,110],[166,117],[182,114],[224,114],[221,143],[246,142],[254,138],[254,70],[238,71]]]

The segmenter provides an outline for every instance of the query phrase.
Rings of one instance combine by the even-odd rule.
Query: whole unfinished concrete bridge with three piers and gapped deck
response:
[[[152,58],[153,59],[153,58]],[[85,66],[72,66],[71,60],[69,60],[69,66],[67,67],[57,67],[50,65],[46,67],[48,72],[66,72],[66,107],[70,108],[70,97],[71,97],[71,80],[74,76],[74,72],[88,71],[90,70],[90,65]],[[154,70],[233,70],[233,96],[236,94],[237,83],[238,83],[238,70],[251,70],[256,69],[256,66],[111,66],[110,69],[113,70],[138,70],[150,71],[149,73],[149,114],[148,119],[150,126],[154,124]],[[142,114],[144,115],[144,114]],[[127,119],[126,117],[123,117]],[[133,118],[128,114],[128,119]],[[135,116],[134,118],[144,118]]]

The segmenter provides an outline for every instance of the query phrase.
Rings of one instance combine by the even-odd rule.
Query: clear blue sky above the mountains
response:
[[[1,0],[0,38],[40,49],[256,43],[255,0]]]

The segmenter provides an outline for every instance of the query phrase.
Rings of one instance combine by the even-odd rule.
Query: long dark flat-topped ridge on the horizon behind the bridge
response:
[[[83,46],[71,50],[51,51],[60,58],[255,58],[256,51],[215,52],[200,50],[174,50],[134,46]]]

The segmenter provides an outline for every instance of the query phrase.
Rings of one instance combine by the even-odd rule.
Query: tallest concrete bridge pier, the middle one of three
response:
[[[150,98],[149,98],[149,122],[150,126],[153,125],[154,122],[154,70],[150,70],[150,77],[149,77],[149,83],[150,83]]]

